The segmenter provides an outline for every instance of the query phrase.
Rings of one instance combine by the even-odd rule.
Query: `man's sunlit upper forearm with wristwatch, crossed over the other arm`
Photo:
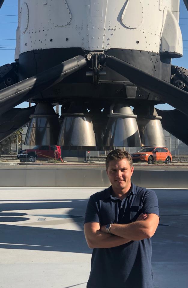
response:
[[[145,221],[136,221],[129,224],[112,224],[111,233],[126,239],[138,241],[150,238],[150,231]]]

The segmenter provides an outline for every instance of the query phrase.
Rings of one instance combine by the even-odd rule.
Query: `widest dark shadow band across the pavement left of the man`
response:
[[[83,231],[0,224],[0,239],[0,248],[7,249],[92,252]]]

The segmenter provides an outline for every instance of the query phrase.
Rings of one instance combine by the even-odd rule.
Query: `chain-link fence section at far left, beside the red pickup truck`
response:
[[[22,134],[11,134],[0,142],[0,159],[17,159],[20,150],[22,150]]]

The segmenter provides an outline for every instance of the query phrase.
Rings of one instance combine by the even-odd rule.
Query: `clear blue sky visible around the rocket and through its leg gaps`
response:
[[[32,0],[30,0],[32,1]],[[16,29],[18,18],[18,1],[5,0],[0,10],[0,66],[14,62],[14,49],[16,45]],[[188,12],[180,0],[180,28],[183,36],[183,57],[172,60],[172,64],[188,68]],[[23,102],[19,108],[28,107],[27,102]],[[171,110],[168,104],[157,105],[161,110]]]

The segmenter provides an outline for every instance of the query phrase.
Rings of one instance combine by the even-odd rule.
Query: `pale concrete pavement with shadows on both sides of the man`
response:
[[[85,288],[91,249],[83,234],[89,196],[100,188],[0,188],[0,287]],[[188,190],[156,189],[155,288],[187,288]]]

